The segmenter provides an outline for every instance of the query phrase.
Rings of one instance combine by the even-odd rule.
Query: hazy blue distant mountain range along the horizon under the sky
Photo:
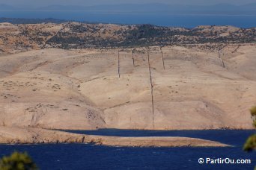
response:
[[[103,4],[84,7],[79,5],[51,5],[47,7],[25,8],[0,4],[0,10],[37,10],[37,11],[86,11],[94,13],[177,13],[177,14],[227,14],[256,15],[256,3],[236,6],[232,4],[170,5],[170,4]]]

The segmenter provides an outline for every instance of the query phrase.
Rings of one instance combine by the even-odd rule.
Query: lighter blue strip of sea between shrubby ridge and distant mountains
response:
[[[194,28],[198,25],[234,25],[240,28],[256,27],[256,16],[228,15],[176,15],[170,13],[94,13],[76,11],[0,11],[0,17],[12,18],[55,18],[76,21],[120,23],[120,24],[153,24]]]

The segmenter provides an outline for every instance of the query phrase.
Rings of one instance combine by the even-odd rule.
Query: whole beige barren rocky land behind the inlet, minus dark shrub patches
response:
[[[70,37],[72,42],[83,37],[91,45],[104,38],[124,45],[127,39],[117,32],[138,29],[131,27],[1,24],[0,125],[52,129],[252,128],[248,110],[256,104],[256,45],[249,43],[255,41],[255,36],[249,35],[255,34],[255,28],[198,27],[193,34],[201,36],[186,36],[191,39],[186,41],[178,35],[182,41],[174,45],[171,39],[175,35],[170,35],[167,42],[171,45],[162,48],[128,45],[99,49],[66,43]],[[147,34],[142,34],[146,38],[139,39],[140,45],[149,45],[151,37],[158,34],[149,35],[148,25],[144,27]],[[103,28],[109,28],[104,37],[97,31]],[[92,29],[100,34],[92,35]],[[164,33],[167,36],[170,32]],[[218,37],[230,41],[199,43],[207,34],[210,41]],[[245,38],[238,40],[242,35]],[[98,39],[92,41],[92,37]],[[161,40],[156,37],[151,42],[163,45]]]

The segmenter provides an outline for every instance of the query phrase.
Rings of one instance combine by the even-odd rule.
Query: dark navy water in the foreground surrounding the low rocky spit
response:
[[[189,136],[235,145],[227,148],[128,148],[100,145],[0,145],[0,157],[27,151],[40,169],[253,169],[256,154],[242,150],[253,130],[85,130],[109,136]],[[199,164],[198,158],[250,159],[251,164]]]

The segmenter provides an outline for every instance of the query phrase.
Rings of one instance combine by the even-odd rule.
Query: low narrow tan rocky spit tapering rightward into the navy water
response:
[[[187,137],[94,136],[33,127],[0,127],[1,144],[91,143],[126,147],[228,147],[219,142]]]

